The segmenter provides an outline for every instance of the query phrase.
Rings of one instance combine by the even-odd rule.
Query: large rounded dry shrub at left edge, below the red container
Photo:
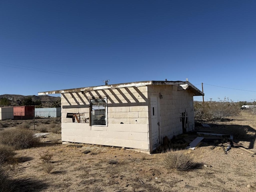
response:
[[[14,149],[30,148],[38,144],[39,138],[32,130],[24,128],[10,128],[0,134],[0,144],[12,146]]]

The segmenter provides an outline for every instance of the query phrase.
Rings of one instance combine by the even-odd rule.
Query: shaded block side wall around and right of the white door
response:
[[[187,131],[194,129],[193,94],[188,90],[178,90],[177,86],[158,85],[148,87],[150,95],[161,94],[160,102],[160,136],[172,138],[182,134],[182,112],[188,118]]]

